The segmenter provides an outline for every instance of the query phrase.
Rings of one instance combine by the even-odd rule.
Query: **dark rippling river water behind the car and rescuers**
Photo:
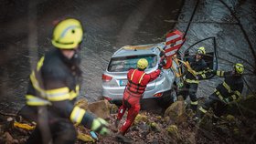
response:
[[[239,17],[255,50],[255,2],[224,2]],[[0,24],[0,109],[15,112],[24,105],[31,67],[38,57],[52,48],[50,38],[56,19],[76,17],[85,28],[86,40],[81,51],[83,87],[80,97],[95,101],[101,98],[101,73],[115,50],[124,45],[165,41],[165,34],[174,28],[185,32],[197,0],[21,0],[5,1],[3,4],[0,10],[4,14],[1,15],[3,23]],[[208,36],[217,38],[219,57],[222,58],[219,68],[231,68],[227,60],[243,63],[230,56],[230,52],[245,57],[255,67],[253,53],[238,22],[219,0],[199,1],[183,49]],[[210,42],[202,45],[211,47]],[[253,70],[249,64],[243,64]],[[255,74],[251,75],[249,70],[246,70],[248,75],[245,79],[254,90]],[[198,88],[198,96],[207,97],[220,81],[217,77],[203,81]],[[245,87],[244,93],[249,92],[249,88]]]

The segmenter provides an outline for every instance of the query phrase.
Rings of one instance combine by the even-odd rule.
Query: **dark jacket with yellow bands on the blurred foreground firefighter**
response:
[[[59,49],[41,57],[30,74],[27,89],[27,105],[47,106],[60,118],[82,123],[91,129],[93,118],[86,110],[75,107],[80,91],[81,71],[77,59],[64,57]]]

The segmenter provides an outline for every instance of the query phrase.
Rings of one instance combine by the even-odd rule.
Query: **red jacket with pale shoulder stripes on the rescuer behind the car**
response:
[[[146,74],[143,70],[130,69],[127,74],[128,83],[124,93],[141,98],[144,94],[146,85],[155,80],[160,75],[160,72],[161,70],[157,69],[150,74]]]

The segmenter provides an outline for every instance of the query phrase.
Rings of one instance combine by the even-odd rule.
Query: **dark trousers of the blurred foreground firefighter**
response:
[[[37,108],[39,107],[29,107],[25,106],[24,108],[21,109],[20,114],[25,116],[25,118],[28,119],[33,119],[34,118],[29,118],[31,115],[37,116]],[[29,115],[27,115],[27,113]],[[76,129],[74,128],[73,123],[67,118],[60,118],[58,117],[57,114],[54,112],[48,110],[48,120],[46,119],[45,122],[38,122],[38,120],[35,120],[37,122],[37,127],[34,129],[32,132],[31,136],[29,139],[27,139],[27,144],[42,144],[43,141],[44,143],[49,143],[52,141],[54,144],[73,144],[75,143],[77,139],[77,132]],[[44,119],[43,119],[44,120]],[[40,126],[41,125],[47,125],[47,126]],[[44,135],[46,135],[44,132],[42,132],[41,128],[49,128],[49,133],[50,133],[50,139],[44,139]],[[48,140],[48,141],[46,141]]]

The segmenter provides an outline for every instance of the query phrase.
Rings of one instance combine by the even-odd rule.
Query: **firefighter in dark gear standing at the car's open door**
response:
[[[197,87],[200,79],[207,78],[208,65],[203,59],[206,55],[205,47],[201,46],[197,48],[197,53],[195,57],[188,57],[187,61],[190,67],[187,67],[187,72],[185,75],[184,90],[181,91],[181,95],[184,99],[189,95],[190,98],[190,108],[196,112],[197,111]]]

